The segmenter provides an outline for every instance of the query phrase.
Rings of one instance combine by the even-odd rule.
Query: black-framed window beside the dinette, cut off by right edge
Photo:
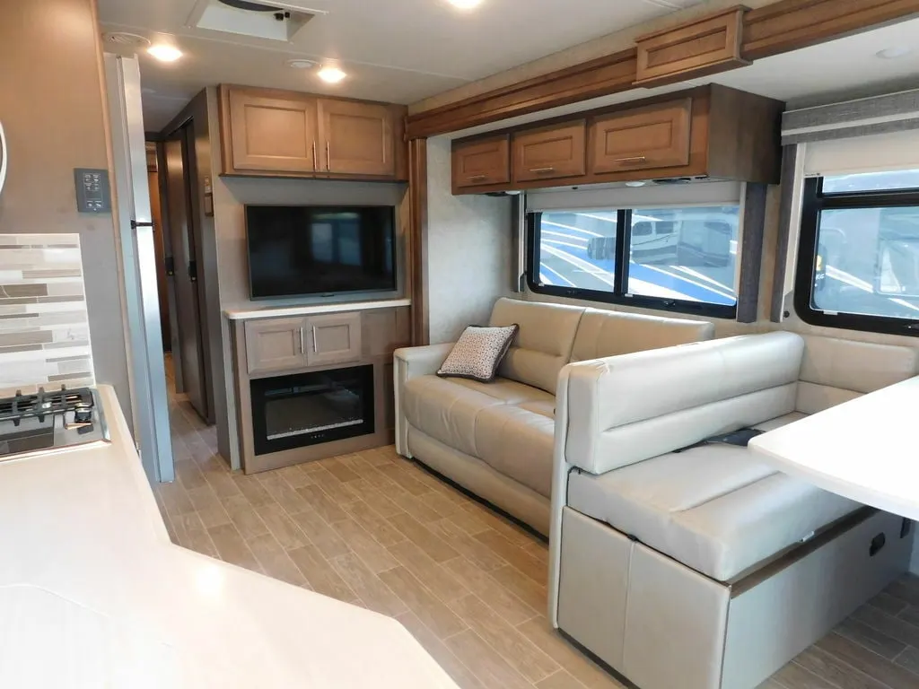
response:
[[[919,334],[919,170],[806,180],[795,310],[815,325]]]

